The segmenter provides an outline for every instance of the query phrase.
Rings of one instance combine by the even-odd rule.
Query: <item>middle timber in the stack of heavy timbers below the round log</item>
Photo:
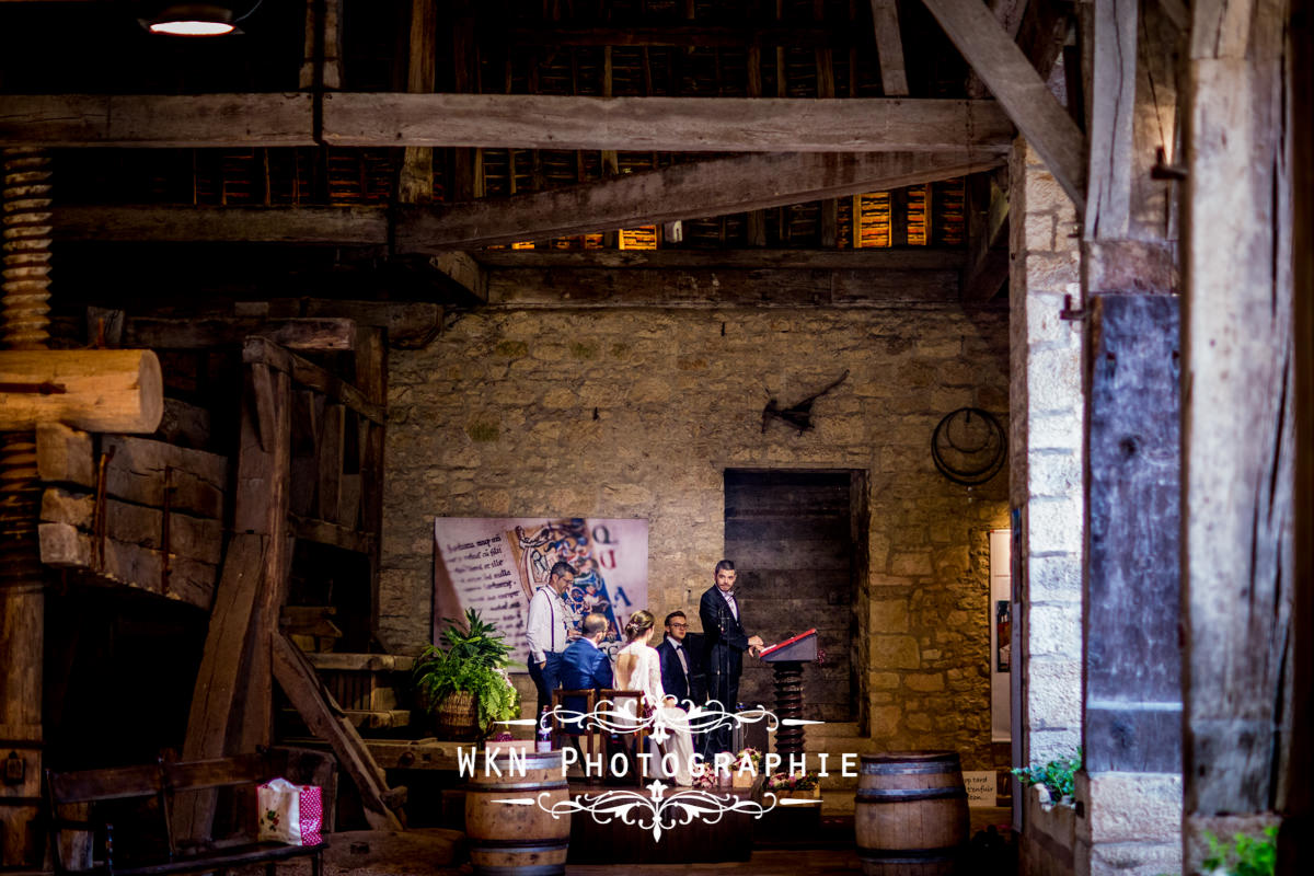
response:
[[[50,487],[41,496],[41,520],[67,523],[91,533],[96,525],[96,496]],[[167,537],[171,554],[212,566],[217,566],[223,554],[221,521],[171,511],[166,532],[162,510],[116,499],[105,500],[104,533],[109,538],[151,550],[164,550]]]

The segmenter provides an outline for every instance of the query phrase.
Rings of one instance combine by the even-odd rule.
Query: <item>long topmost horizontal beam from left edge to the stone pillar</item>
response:
[[[0,146],[314,146],[314,95],[8,95]],[[991,100],[334,92],[328,146],[1004,154]]]

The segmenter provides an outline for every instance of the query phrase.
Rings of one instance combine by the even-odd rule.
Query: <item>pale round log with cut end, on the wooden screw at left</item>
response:
[[[160,362],[148,349],[0,352],[0,431],[58,422],[92,432],[151,433],[164,412]]]

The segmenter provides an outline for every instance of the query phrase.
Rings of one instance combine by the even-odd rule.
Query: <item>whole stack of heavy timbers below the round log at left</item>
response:
[[[41,559],[209,609],[223,549],[226,457],[163,441],[37,431]]]

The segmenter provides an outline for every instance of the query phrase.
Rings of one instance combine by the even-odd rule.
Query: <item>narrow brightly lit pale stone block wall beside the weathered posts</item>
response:
[[[1081,486],[1085,402],[1080,226],[1071,200],[1024,141],[1009,163],[1012,319],[1010,498],[1021,510],[1014,570],[1022,655],[1022,759],[1045,763],[1081,743]],[[1014,571],[1016,574],[1016,571]]]

